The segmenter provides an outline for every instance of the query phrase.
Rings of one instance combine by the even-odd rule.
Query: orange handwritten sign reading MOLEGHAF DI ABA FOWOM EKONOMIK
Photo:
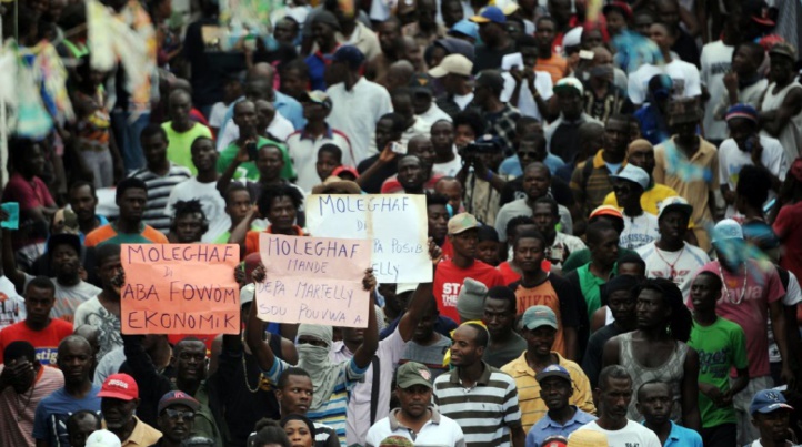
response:
[[[123,244],[123,334],[239,334],[235,244]]]

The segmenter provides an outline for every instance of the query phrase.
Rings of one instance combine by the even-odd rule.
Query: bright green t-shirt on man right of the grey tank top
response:
[[[730,368],[746,369],[746,336],[741,326],[719,317],[710,326],[693,323],[688,346],[699,353],[699,382],[712,384],[725,393],[730,389]],[[720,408],[708,396],[699,393],[699,412],[702,427],[735,424],[735,408]]]

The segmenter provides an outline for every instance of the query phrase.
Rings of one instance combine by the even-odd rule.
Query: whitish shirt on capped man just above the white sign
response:
[[[325,132],[319,138],[314,138],[311,133],[307,132],[307,129],[295,131],[287,138],[287,149],[292,160],[292,165],[295,167],[298,173],[298,181],[295,184],[303,191],[312,191],[312,187],[322,183],[318,176],[318,151],[324,144],[333,144],[340,148],[342,151],[342,164],[347,166],[355,166],[355,160],[353,150],[351,149],[351,141],[348,136],[332,129],[327,124]]]

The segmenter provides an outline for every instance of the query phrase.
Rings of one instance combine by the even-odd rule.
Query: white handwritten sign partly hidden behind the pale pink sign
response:
[[[424,195],[311,195],[307,230],[315,237],[371,241],[380,283],[432,281]]]

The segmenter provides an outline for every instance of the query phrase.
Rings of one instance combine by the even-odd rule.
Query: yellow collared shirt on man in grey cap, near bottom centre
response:
[[[568,369],[568,374],[571,376],[573,394],[569,398],[569,404],[578,406],[585,413],[595,413],[590,380],[582,372],[582,367],[563,358],[558,352],[552,351],[551,353],[557,355],[557,364]],[[537,373],[527,362],[527,352],[524,351],[520,357],[504,365],[501,370],[515,380],[521,406],[521,423],[524,431],[529,431],[538,420],[543,418],[548,407],[540,397],[540,384],[534,379]]]

